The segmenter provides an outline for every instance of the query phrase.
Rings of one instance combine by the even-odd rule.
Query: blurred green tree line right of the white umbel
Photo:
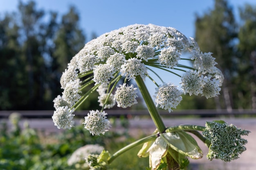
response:
[[[238,10],[236,18],[227,0],[215,0],[207,13],[196,15],[195,40],[202,52],[213,53],[225,81],[218,97],[184,97],[187,107],[256,109],[256,4]]]

